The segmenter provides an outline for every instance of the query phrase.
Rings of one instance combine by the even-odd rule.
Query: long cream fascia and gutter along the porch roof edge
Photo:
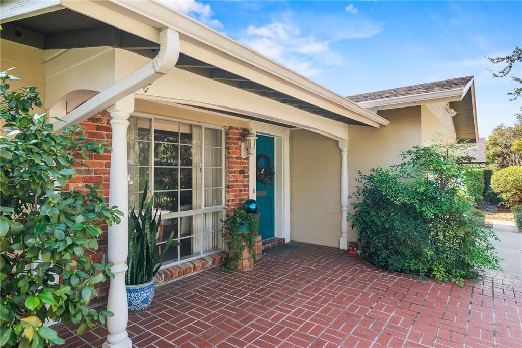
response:
[[[389,124],[387,119],[175,11],[161,1],[111,0],[97,2],[96,9],[88,5],[92,3],[62,0],[63,5],[75,11],[154,42],[158,42],[157,38],[144,26],[175,29],[180,33],[182,52],[189,56],[366,125],[379,127]],[[140,25],[131,25],[129,20],[139,22]]]

